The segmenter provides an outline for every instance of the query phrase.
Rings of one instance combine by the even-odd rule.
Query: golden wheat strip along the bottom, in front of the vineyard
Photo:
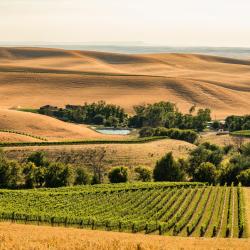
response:
[[[90,231],[73,228],[0,224],[0,249],[249,249],[249,239],[209,239]]]

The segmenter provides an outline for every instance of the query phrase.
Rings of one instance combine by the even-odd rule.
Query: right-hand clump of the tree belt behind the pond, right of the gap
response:
[[[192,106],[188,114],[181,113],[171,102],[138,105],[134,107],[135,115],[129,119],[129,126],[165,127],[179,129],[195,129],[202,131],[207,122],[211,121],[210,109],[199,109]]]

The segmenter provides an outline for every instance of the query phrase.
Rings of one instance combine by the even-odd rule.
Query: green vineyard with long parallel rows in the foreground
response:
[[[1,190],[0,219],[146,234],[246,237],[241,186],[202,183]]]

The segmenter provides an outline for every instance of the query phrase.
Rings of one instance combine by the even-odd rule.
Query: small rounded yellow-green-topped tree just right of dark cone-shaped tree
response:
[[[203,162],[195,169],[193,177],[194,181],[214,184],[217,180],[217,169],[211,162]]]

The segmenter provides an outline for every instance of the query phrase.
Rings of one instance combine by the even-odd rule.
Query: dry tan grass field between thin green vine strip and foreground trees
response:
[[[88,165],[89,158],[85,158],[86,152],[100,147],[106,150],[106,166],[134,168],[140,165],[154,167],[156,161],[169,151],[172,151],[175,157],[185,158],[189,150],[196,146],[184,141],[164,139],[143,144],[13,147],[5,148],[5,152],[8,157],[21,160],[33,151],[45,151],[51,160]]]

